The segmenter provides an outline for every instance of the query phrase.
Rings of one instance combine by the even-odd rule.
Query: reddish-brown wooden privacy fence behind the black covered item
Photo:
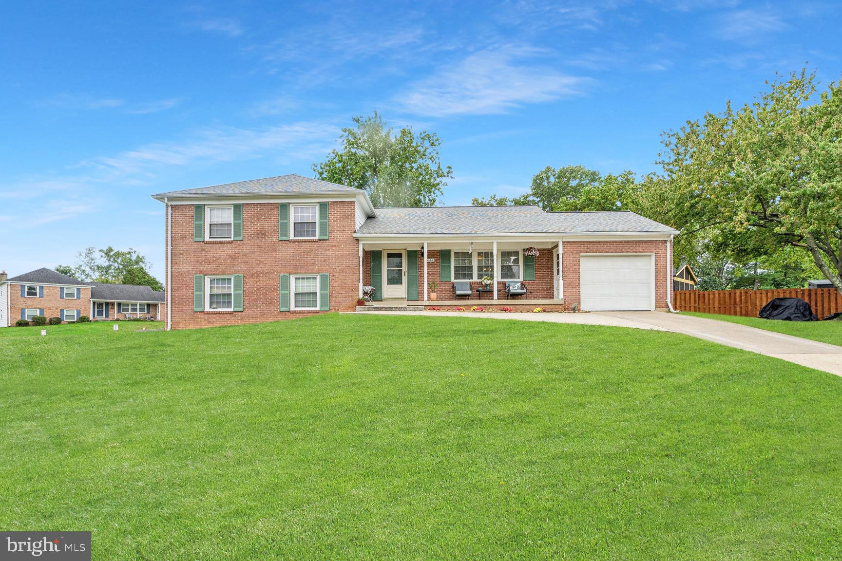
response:
[[[821,320],[842,312],[842,294],[836,288],[775,288],[774,290],[676,290],[675,310],[705,314],[757,317],[760,308],[773,298],[806,300]]]

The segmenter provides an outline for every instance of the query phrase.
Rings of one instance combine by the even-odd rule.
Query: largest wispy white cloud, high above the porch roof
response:
[[[581,93],[586,78],[525,61],[541,51],[514,45],[481,50],[433,77],[411,84],[395,102],[413,114],[498,114],[525,103]]]

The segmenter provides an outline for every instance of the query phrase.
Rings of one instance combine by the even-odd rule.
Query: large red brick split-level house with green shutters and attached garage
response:
[[[167,205],[168,329],[353,311],[364,286],[374,307],[671,302],[678,232],[628,211],[375,209],[360,189],[297,174],[153,197]],[[507,286],[526,294],[509,299]]]

